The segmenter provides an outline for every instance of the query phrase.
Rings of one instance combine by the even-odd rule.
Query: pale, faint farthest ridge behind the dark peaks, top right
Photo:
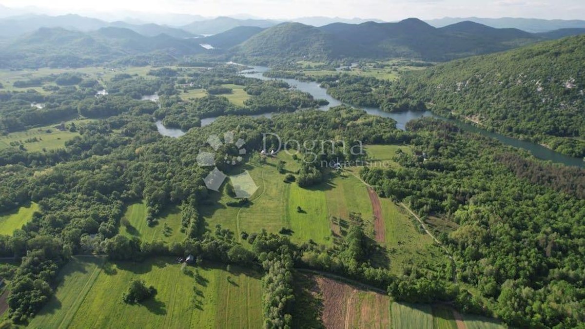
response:
[[[429,23],[436,28],[442,28],[443,26],[452,25],[459,22],[470,21],[476,22],[483,25],[491,26],[492,28],[504,29],[514,28],[524,30],[526,32],[539,33],[549,32],[552,30],[559,29],[585,29],[585,20],[562,20],[562,19],[535,19],[535,18],[479,18],[479,17],[466,17],[466,18],[441,18],[441,19],[428,19],[425,22]]]

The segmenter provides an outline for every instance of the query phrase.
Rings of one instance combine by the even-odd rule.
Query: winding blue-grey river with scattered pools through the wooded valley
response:
[[[266,66],[252,66],[252,68],[250,68],[249,70],[242,71],[242,75],[245,77],[249,77],[249,78],[258,78],[260,80],[272,80],[273,78],[268,78],[268,77],[263,76],[263,74],[268,70],[269,70],[269,68]],[[323,111],[326,111],[331,107],[336,107],[338,105],[343,104],[339,100],[336,100],[335,98],[331,97],[331,95],[327,94],[327,90],[325,88],[321,88],[318,83],[307,82],[307,81],[298,81],[296,79],[286,79],[286,78],[278,79],[278,80],[283,80],[283,81],[287,82],[288,84],[290,84],[292,87],[295,87],[300,91],[308,92],[309,94],[313,95],[313,97],[315,99],[327,100],[329,102],[329,104],[324,105],[324,106],[319,108],[319,109],[322,109]],[[510,145],[510,146],[514,146],[515,148],[521,148],[524,150],[528,150],[528,152],[530,152],[532,155],[534,155],[535,157],[538,157],[539,159],[542,159],[542,160],[550,160],[550,161],[555,162],[555,163],[563,163],[564,165],[567,165],[567,166],[585,167],[585,161],[583,159],[578,158],[578,157],[571,157],[571,156],[562,155],[558,152],[547,149],[544,146],[539,145],[537,143],[527,142],[524,140],[519,140],[516,138],[511,138],[511,137],[507,137],[504,135],[500,135],[499,133],[490,132],[490,131],[487,131],[485,129],[481,129],[477,126],[467,124],[466,122],[463,122],[463,121],[460,121],[457,119],[444,118],[442,116],[433,114],[430,111],[424,111],[424,112],[423,111],[419,111],[419,112],[408,111],[408,112],[400,112],[400,113],[388,113],[388,112],[381,111],[378,108],[364,108],[364,110],[368,114],[371,114],[371,115],[377,115],[377,116],[382,116],[384,118],[394,119],[397,122],[396,128],[402,129],[402,130],[405,130],[405,126],[406,126],[407,122],[411,121],[412,119],[418,119],[418,118],[422,118],[425,116],[431,116],[433,118],[438,118],[438,119],[452,122],[453,124],[459,126],[459,128],[461,128],[465,131],[479,133],[480,135],[487,136],[489,138],[495,138],[495,139],[499,140],[500,142],[504,143],[505,145]],[[266,113],[266,114],[259,114],[259,115],[253,115],[253,116],[255,116],[255,117],[257,117],[257,116],[270,117],[272,115],[273,115],[272,113]],[[212,122],[214,122],[215,119],[217,119],[217,118],[214,117],[214,118],[202,119],[201,126],[207,126],[207,125],[211,124]],[[159,132],[161,132],[161,128],[164,128],[164,126],[161,123],[157,122],[157,128],[159,128]],[[174,135],[173,137],[178,137],[179,133],[176,131],[179,131],[180,133],[182,133],[184,135],[184,132],[180,131],[179,129],[167,129],[167,128],[164,128],[164,129],[166,129],[167,131],[173,131],[172,132],[172,134]],[[170,134],[171,132],[166,132],[166,133],[161,132],[161,134],[163,134],[163,135],[170,136],[170,135],[167,135],[167,133]]]

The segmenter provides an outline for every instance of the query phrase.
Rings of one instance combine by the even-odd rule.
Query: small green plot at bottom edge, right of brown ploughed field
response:
[[[395,329],[432,329],[433,316],[430,305],[392,303],[392,327]]]

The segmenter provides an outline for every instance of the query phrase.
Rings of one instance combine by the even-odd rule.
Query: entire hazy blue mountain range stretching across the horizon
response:
[[[69,29],[40,28],[15,39],[4,40],[0,47],[0,65],[84,66],[129,56],[140,56],[140,59],[125,63],[151,63],[149,60],[153,57],[162,57],[164,63],[169,63],[181,56],[195,54],[222,54],[222,60],[232,58],[247,63],[389,57],[448,61],[585,33],[585,29],[529,33],[519,29],[495,29],[469,21],[434,28],[422,20],[409,18],[397,23],[333,23],[320,27],[301,23],[280,23],[268,28],[236,26],[225,32],[201,37],[194,32],[205,32],[204,29],[188,32],[156,24],[107,23],[77,15],[35,17],[37,25],[50,26],[58,22]],[[259,25],[270,23],[262,20],[245,21]],[[4,24],[0,24],[0,32],[13,30],[17,23],[25,30],[33,29],[30,17],[0,22]],[[214,25],[209,22],[225,26],[223,23],[241,21],[218,18],[201,22],[203,25],[199,27],[211,29]],[[11,28],[6,24],[12,24]],[[102,27],[104,24],[106,26]],[[71,26],[75,29],[71,29]],[[214,49],[205,49],[201,44],[211,44]]]

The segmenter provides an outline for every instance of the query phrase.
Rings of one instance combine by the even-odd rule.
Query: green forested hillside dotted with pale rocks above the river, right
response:
[[[411,73],[407,94],[507,135],[585,156],[585,36]]]

